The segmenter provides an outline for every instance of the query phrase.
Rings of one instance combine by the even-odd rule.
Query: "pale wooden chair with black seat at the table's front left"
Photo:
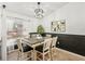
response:
[[[18,56],[17,60],[30,60],[32,48],[23,43],[22,38],[17,38]]]

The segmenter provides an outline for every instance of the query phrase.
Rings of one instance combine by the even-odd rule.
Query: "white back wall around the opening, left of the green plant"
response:
[[[24,25],[24,34],[37,31],[37,26],[39,25],[38,20],[18,13],[6,11],[8,30],[12,30],[13,23],[18,21],[20,21]],[[1,26],[1,9],[0,9],[0,26]],[[1,37],[1,27],[0,27],[0,37]]]

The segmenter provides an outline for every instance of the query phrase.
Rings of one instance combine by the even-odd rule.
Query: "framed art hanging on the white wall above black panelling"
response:
[[[65,33],[66,31],[66,20],[52,22],[51,30],[57,31],[57,33]]]

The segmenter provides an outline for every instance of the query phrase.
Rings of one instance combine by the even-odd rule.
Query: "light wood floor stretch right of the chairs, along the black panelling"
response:
[[[55,53],[53,53],[54,61],[85,61],[85,56],[62,50],[56,48],[53,50]]]

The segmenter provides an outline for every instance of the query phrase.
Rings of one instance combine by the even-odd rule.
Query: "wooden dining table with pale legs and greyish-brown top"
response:
[[[43,44],[43,41],[47,38],[23,38],[24,43],[28,44],[29,47],[33,48],[32,50],[32,60],[37,61],[37,52],[36,48],[38,46]]]

